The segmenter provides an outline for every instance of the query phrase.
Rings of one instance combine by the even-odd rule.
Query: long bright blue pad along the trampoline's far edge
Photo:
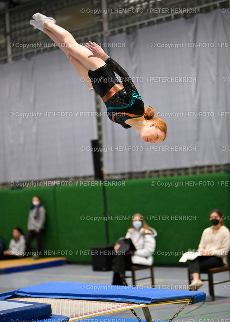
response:
[[[199,291],[166,290],[140,286],[129,287],[71,282],[49,282],[23,287],[12,292],[0,294],[0,298],[2,299],[10,298],[12,296],[106,300],[139,304],[151,304],[179,299],[191,299],[192,303],[198,303],[204,301],[206,298],[206,294]]]

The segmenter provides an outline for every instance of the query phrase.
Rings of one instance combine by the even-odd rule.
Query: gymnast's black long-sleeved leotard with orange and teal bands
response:
[[[108,117],[124,128],[130,128],[125,121],[143,116],[144,102],[127,72],[110,57],[105,62],[106,64],[97,70],[89,70],[92,86],[103,99]],[[121,77],[123,85],[114,71]]]

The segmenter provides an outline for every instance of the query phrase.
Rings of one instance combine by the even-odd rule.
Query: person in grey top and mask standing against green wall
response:
[[[32,205],[28,217],[28,231],[26,235],[26,249],[31,252],[33,257],[38,258],[42,256],[43,245],[43,232],[45,228],[46,210],[41,199],[38,196],[32,198]],[[32,241],[37,240],[37,253],[32,246]]]

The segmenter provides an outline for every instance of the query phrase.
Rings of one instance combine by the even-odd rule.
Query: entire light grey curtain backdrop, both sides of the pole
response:
[[[230,162],[229,41],[230,14],[221,10],[103,40],[105,51],[133,77],[145,106],[155,107],[168,126],[164,142],[149,144],[103,116],[108,173]],[[0,65],[0,74],[0,182],[92,175],[96,117],[76,113],[95,111],[94,93],[65,54]]]

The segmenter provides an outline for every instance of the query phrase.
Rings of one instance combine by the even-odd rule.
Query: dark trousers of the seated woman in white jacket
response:
[[[125,270],[132,265],[131,255],[129,254],[118,254],[113,259],[113,285],[120,285],[121,279],[120,274],[125,275]]]

